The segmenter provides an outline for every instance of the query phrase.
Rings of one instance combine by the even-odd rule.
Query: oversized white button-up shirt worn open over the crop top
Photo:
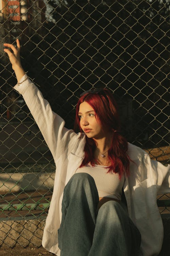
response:
[[[25,78],[26,75],[20,82]],[[84,159],[85,134],[65,128],[64,120],[51,110],[48,101],[29,79],[14,88],[22,94],[55,161],[54,189],[42,244],[46,250],[60,255],[57,230],[62,217],[63,190]],[[130,143],[128,155],[134,162],[130,162],[130,176],[125,176],[123,186],[129,216],[141,233],[140,255],[155,256],[163,242],[156,196],[170,193],[170,166],[151,160],[145,151]]]

